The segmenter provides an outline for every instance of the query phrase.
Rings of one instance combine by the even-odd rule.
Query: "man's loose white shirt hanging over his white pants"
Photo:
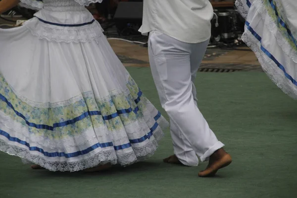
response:
[[[143,35],[157,30],[185,43],[210,38],[213,8],[209,0],[144,0]]]

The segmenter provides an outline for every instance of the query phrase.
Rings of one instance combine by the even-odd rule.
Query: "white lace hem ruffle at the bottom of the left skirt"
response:
[[[157,134],[156,134],[157,136]],[[111,164],[121,164],[122,166],[131,165],[135,162],[145,160],[151,157],[156,149],[158,148],[158,143],[156,140],[149,142],[148,144],[133,148],[133,151],[116,154],[114,149],[104,150],[96,154],[91,154],[85,156],[85,158],[77,161],[47,161],[44,157],[40,155],[31,154],[25,148],[19,148],[13,145],[8,145],[6,142],[0,139],[0,151],[6,152],[10,155],[15,155],[22,158],[24,163],[34,163],[38,164],[50,171],[69,171],[75,172],[84,170],[87,168],[92,168],[98,165],[103,165],[106,163]]]

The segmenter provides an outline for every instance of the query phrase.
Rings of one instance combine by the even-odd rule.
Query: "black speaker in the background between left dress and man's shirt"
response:
[[[119,35],[138,35],[142,25],[143,2],[119,2],[113,20]]]

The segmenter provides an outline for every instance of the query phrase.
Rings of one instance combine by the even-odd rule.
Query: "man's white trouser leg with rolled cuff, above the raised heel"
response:
[[[204,161],[224,145],[210,130],[192,94],[190,55],[195,45],[152,32],[148,46],[151,71],[162,107],[168,113],[171,124]],[[179,137],[180,134],[175,135]]]

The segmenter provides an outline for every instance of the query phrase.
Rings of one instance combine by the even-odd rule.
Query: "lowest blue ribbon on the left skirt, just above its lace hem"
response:
[[[113,143],[112,142],[108,142],[108,143],[97,143],[97,144],[93,145],[92,147],[89,147],[89,148],[84,149],[84,150],[72,152],[72,153],[47,152],[47,151],[44,151],[44,149],[39,148],[39,147],[30,147],[30,144],[27,143],[26,141],[22,141],[22,140],[20,140],[18,138],[11,137],[8,133],[6,133],[5,131],[2,131],[2,130],[0,130],[0,135],[6,137],[11,142],[17,142],[17,143],[19,143],[21,145],[24,145],[24,146],[28,147],[29,150],[31,150],[31,151],[38,151],[40,153],[43,153],[47,157],[66,157],[66,158],[71,158],[71,157],[77,157],[79,155],[87,154],[87,153],[91,152],[92,150],[95,150],[96,148],[106,148],[106,147],[112,147],[113,146],[113,148],[115,150],[121,150],[121,149],[132,147],[132,144],[142,143],[142,142],[146,141],[147,139],[150,139],[150,137],[153,135],[153,132],[158,127],[157,120],[160,117],[161,117],[161,113],[158,111],[158,114],[154,117],[154,120],[156,122],[150,128],[149,133],[147,135],[139,138],[139,139],[129,140],[130,143],[127,143],[127,144],[124,144],[124,145],[119,145],[119,146],[113,146]]]

